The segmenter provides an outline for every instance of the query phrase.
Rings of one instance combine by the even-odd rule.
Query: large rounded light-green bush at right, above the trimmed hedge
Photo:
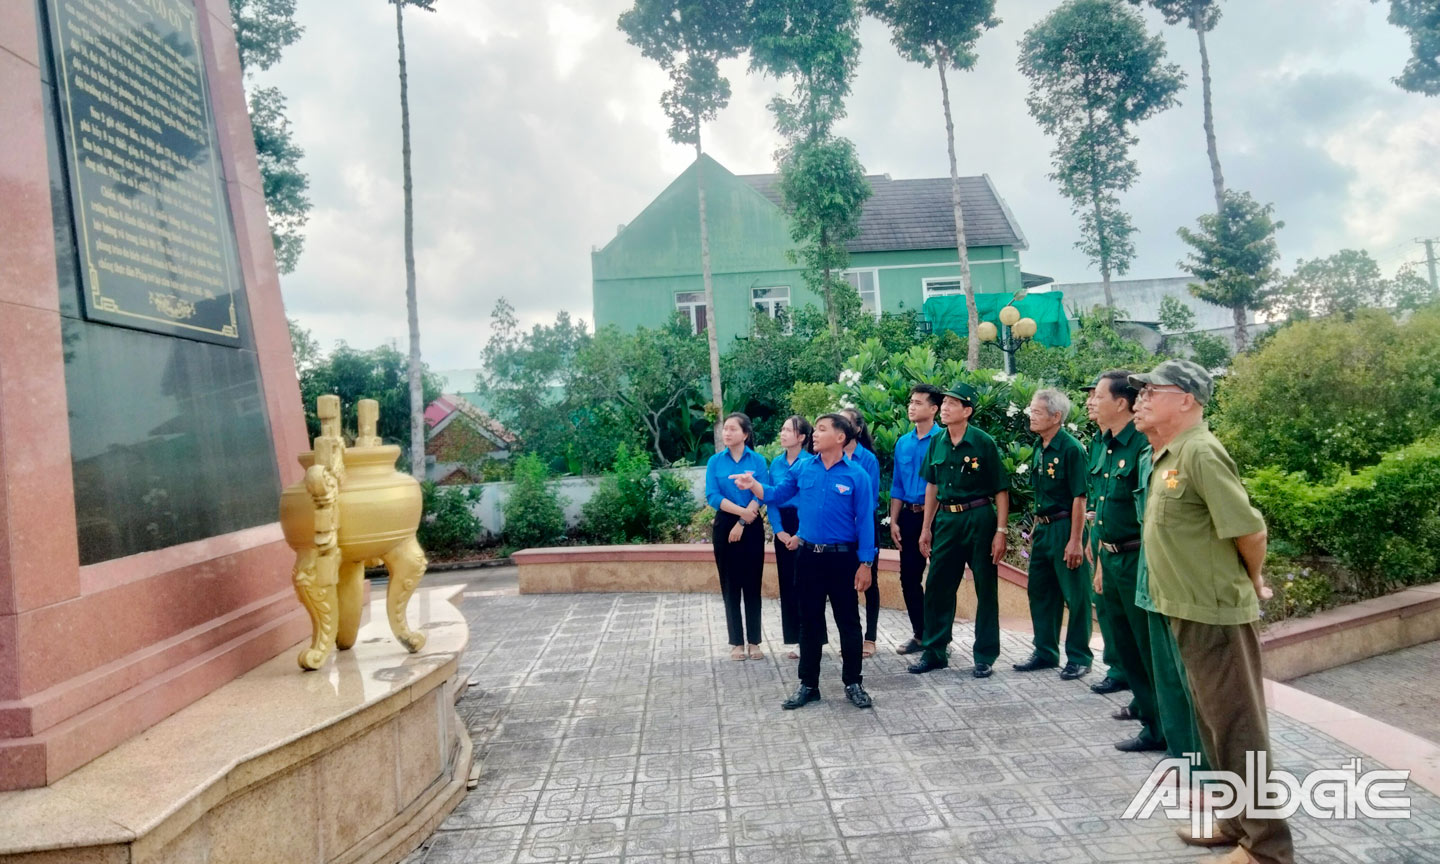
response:
[[[1310,480],[1372,465],[1440,426],[1440,310],[1300,321],[1236,359],[1215,433],[1246,469]]]

